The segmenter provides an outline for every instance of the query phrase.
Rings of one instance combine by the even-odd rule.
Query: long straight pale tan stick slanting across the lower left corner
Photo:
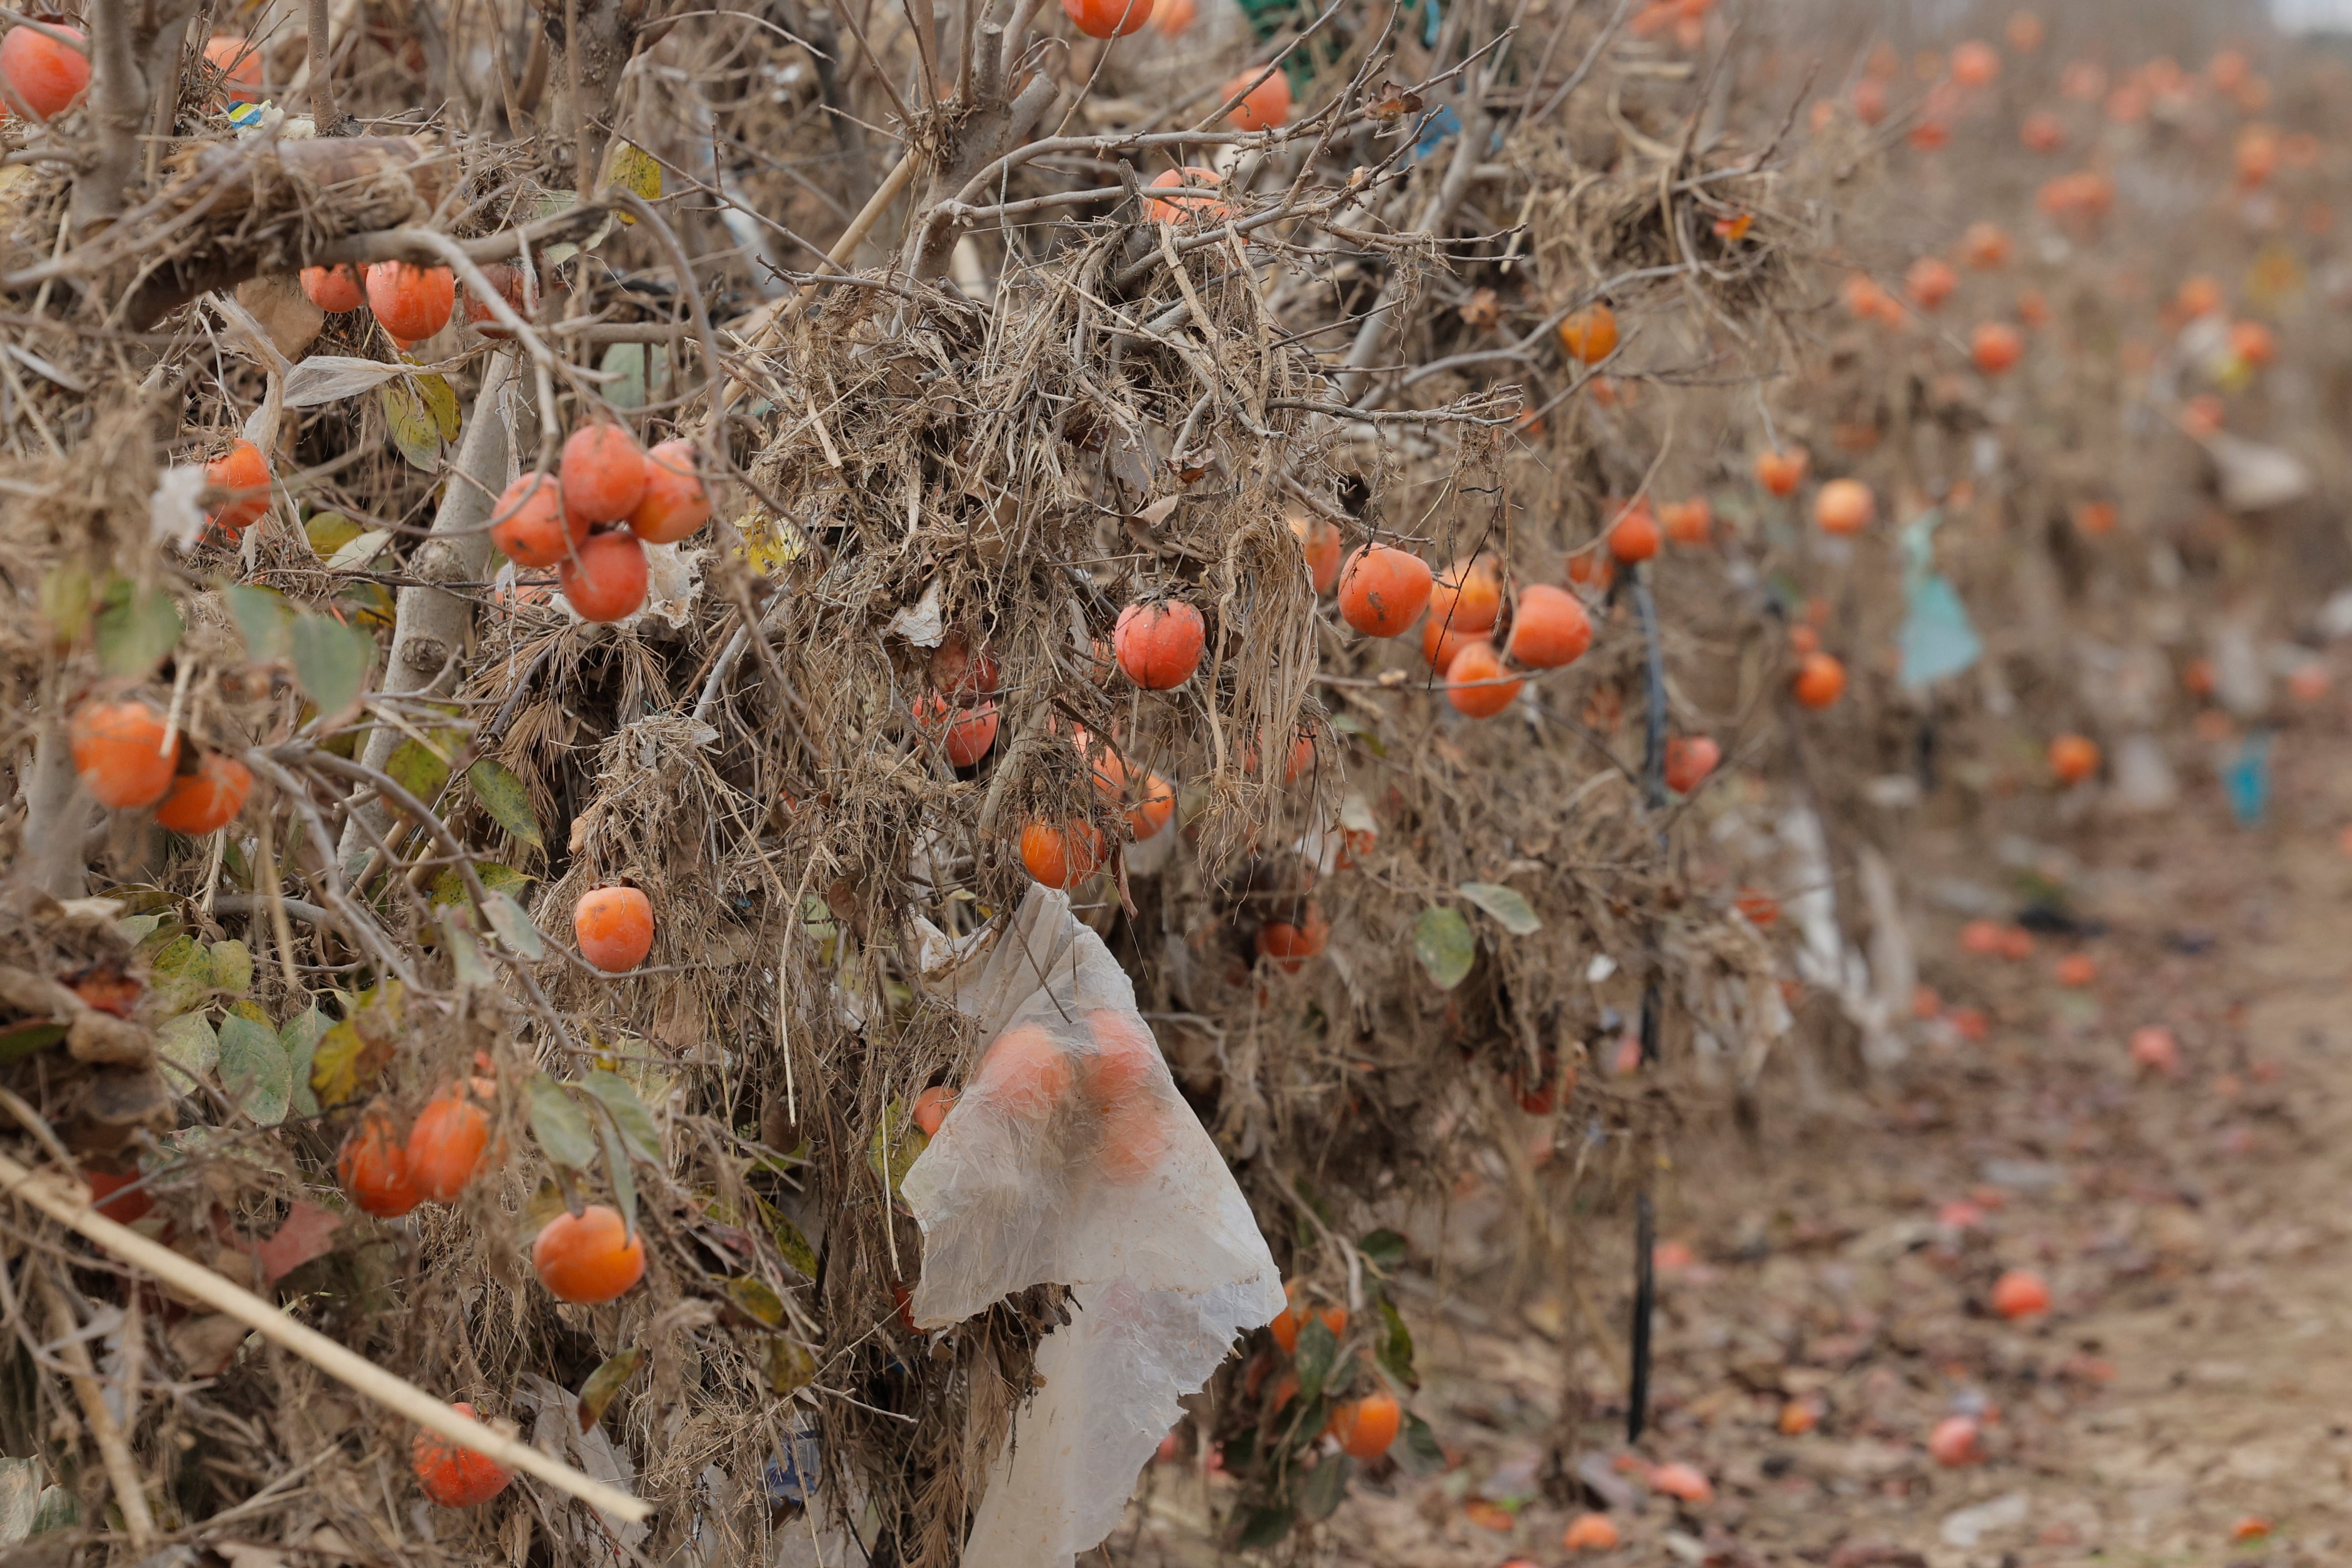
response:
[[[572,1493],[581,1502],[630,1523],[642,1523],[654,1512],[642,1497],[630,1497],[628,1493],[604,1486],[602,1481],[590,1481],[581,1472],[550,1460],[529,1443],[499,1436],[482,1422],[459,1415],[414,1382],[395,1378],[367,1356],[343,1349],[306,1324],[296,1324],[252,1291],[221,1279],[205,1265],[181,1258],[167,1246],[148,1241],[127,1225],[115,1225],[92,1208],[89,1187],[82,1182],[66,1180],[52,1171],[28,1171],[7,1154],[0,1154],[0,1190],[24,1199],[59,1225],[82,1232],[122,1262],[146,1269],[174,1291],[198,1298],[214,1312],[226,1312],[263,1340],[294,1352],[343,1387],[374,1399],[402,1420],[412,1420],[428,1432],[437,1432],[452,1443],[473,1448],[508,1469],[524,1469],[548,1486]]]

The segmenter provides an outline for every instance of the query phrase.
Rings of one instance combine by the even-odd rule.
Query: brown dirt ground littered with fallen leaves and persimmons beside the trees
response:
[[[1773,1105],[1759,1157],[1722,1135],[1729,1154],[1684,1164],[1663,1204],[1658,1425],[1639,1460],[1623,1448],[1623,1291],[1595,1302],[1606,1356],[1557,1295],[1503,1312],[1465,1279],[1425,1302],[1416,1408],[1456,1465],[1364,1486],[1329,1561],[2345,1561],[2347,752],[2310,731],[2281,745],[2265,830],[2192,795],[2178,818],[2086,835],[2082,860],[2032,846],[2074,912],[2105,922],[2093,940],[2004,961],[1962,957],[1957,914],[1924,922],[1926,978],[1983,1011],[1985,1037],[1936,1027],[1867,1095],[1811,1117]],[[2096,959],[2093,985],[2056,980],[2070,952]],[[2173,1030],[2176,1074],[2133,1065],[2143,1025]],[[1621,1229],[1592,1227],[1602,1279],[1625,1276]],[[2051,1314],[1994,1316],[2004,1269],[2042,1274]],[[1564,1385],[1592,1413],[1571,1474],[1545,1481]],[[1785,1434],[1790,1406],[1818,1425]],[[1976,1465],[1926,1453],[1955,1413],[1980,1415]],[[1715,1497],[1644,1495],[1663,1460],[1698,1465]],[[1611,1505],[1623,1547],[1564,1552],[1592,1505]],[[1150,1512],[1131,1561],[1211,1561],[1197,1476],[1157,1483]]]

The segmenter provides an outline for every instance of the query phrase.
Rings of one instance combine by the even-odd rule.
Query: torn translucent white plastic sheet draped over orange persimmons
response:
[[[1035,1284],[1073,1293],[1037,1347],[964,1568],[1068,1568],[1282,1276],[1136,994],[1070,900],[1030,889],[943,983],[988,1048],[901,1192],[922,1225],[910,1312],[943,1328]]]

